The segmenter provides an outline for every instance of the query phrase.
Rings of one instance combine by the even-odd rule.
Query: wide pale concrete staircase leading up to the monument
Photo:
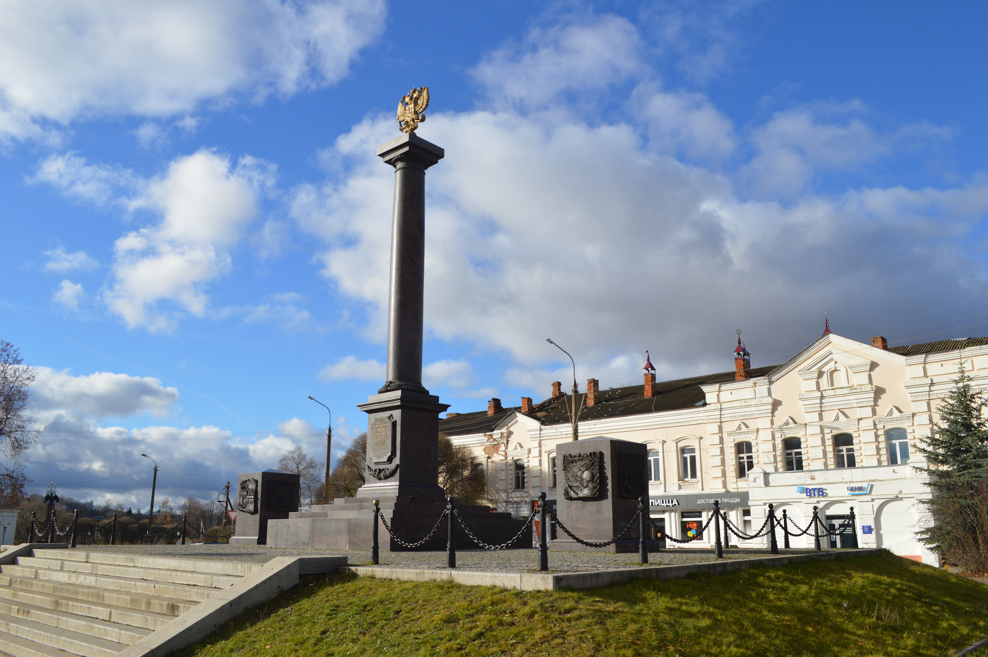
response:
[[[32,549],[0,565],[0,655],[110,657],[263,567]]]

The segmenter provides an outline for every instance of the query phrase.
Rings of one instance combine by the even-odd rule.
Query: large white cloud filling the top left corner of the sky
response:
[[[0,135],[332,84],[384,15],[383,0],[12,0],[0,11]]]

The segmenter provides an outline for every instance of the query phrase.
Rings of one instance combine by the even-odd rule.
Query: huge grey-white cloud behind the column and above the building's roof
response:
[[[544,56],[557,48],[547,40]],[[483,66],[510,72],[542,56],[531,45]],[[569,89],[575,77],[564,71],[551,89]],[[793,197],[746,198],[744,163],[731,171],[681,158],[716,159],[745,138],[708,100],[663,98],[655,84],[637,93],[637,122],[544,108],[430,118],[422,136],[446,149],[428,173],[432,335],[507,355],[513,381],[551,371],[539,365],[559,357],[544,343],[551,335],[578,357],[581,379],[604,384],[605,372],[619,384],[639,380],[645,349],[661,375],[730,370],[736,328],[756,365],[769,365],[816,338],[825,310],[840,318],[831,322],[839,333],[869,336],[911,321],[917,298],[945,316],[985,300],[984,268],[963,237],[988,213],[988,181],[829,195],[803,186]],[[777,116],[756,127],[756,160],[771,147],[843,170],[899,138],[831,117]],[[368,302],[370,339],[384,335],[393,186],[374,152],[391,132],[385,118],[355,125],[324,154],[342,174],[299,186],[292,202],[301,229],[324,240],[323,275]]]

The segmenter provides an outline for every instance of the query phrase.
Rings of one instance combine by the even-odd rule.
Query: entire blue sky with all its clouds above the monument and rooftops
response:
[[[978,3],[6,3],[0,337],[33,492],[178,501],[342,452],[382,379],[393,172],[430,87],[426,384],[988,335]],[[143,462],[142,462],[143,461]]]

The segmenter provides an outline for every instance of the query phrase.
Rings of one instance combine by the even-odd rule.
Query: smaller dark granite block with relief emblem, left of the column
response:
[[[236,535],[231,545],[266,545],[271,521],[298,511],[298,475],[282,470],[241,474],[237,482]]]

